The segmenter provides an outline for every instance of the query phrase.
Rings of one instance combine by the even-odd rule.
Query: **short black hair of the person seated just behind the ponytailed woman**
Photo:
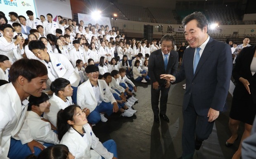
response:
[[[70,82],[69,80],[67,79],[64,79],[64,78],[57,78],[55,79],[51,86],[50,86],[50,89],[51,91],[53,91],[55,93],[55,95],[57,96],[59,94],[59,91],[64,91],[65,87],[67,85],[69,85]]]

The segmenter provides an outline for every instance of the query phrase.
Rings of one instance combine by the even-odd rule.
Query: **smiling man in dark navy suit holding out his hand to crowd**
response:
[[[183,19],[185,38],[190,47],[176,75],[161,78],[178,83],[186,79],[183,99],[183,158],[193,157],[213,129],[214,120],[223,111],[232,73],[230,46],[207,34],[208,21],[201,12]],[[196,136],[196,139],[194,138]]]

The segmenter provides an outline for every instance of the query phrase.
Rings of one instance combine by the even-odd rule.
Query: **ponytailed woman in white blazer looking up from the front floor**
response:
[[[114,140],[102,144],[88,124],[85,112],[78,105],[69,105],[59,110],[57,130],[60,144],[66,145],[76,159],[117,159]]]

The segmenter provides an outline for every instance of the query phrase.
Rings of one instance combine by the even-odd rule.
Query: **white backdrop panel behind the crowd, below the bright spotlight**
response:
[[[96,23],[98,23],[98,24],[104,25],[104,26],[108,25],[109,30],[111,30],[111,23],[110,23],[109,17],[101,16],[100,19],[95,20],[92,18],[92,16],[90,14],[78,13],[78,23],[81,20],[84,22],[85,26],[88,26],[88,23],[92,23],[92,25],[95,25]]]

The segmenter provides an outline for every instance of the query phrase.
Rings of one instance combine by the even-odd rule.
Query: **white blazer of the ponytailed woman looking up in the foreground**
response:
[[[82,137],[72,127],[64,134],[60,144],[69,147],[69,151],[76,159],[112,159],[114,154],[108,152],[95,136],[89,124],[83,125],[85,134]],[[92,148],[93,150],[90,150]],[[102,157],[101,157],[102,156]]]

